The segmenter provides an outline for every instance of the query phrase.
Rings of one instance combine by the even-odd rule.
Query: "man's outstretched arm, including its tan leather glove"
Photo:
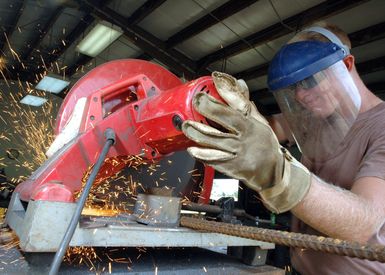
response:
[[[196,95],[193,105],[227,131],[185,121],[183,132],[199,145],[188,149],[192,156],[258,191],[271,211],[292,210],[326,235],[364,242],[378,230],[385,218],[384,181],[360,178],[352,192],[322,182],[279,145],[268,122],[242,97],[243,86],[225,74],[215,73],[213,80],[228,105],[207,94]]]

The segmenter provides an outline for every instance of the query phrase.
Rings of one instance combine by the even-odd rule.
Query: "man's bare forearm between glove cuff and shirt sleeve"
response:
[[[315,176],[292,213],[330,237],[359,242],[368,241],[384,219],[383,211],[370,201]]]

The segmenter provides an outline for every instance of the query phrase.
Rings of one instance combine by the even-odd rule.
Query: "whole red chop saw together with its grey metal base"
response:
[[[196,93],[209,93],[220,100],[211,77],[183,84],[161,66],[141,60],[112,61],[94,68],[80,79],[59,110],[56,138],[46,153],[49,158],[17,186],[9,203],[6,223],[19,237],[20,248],[26,252],[61,251],[56,253],[59,256],[55,263],[58,263],[66,241],[70,246],[96,247],[260,246],[261,243],[254,240],[224,238],[221,234],[184,227],[160,227],[156,224],[149,227],[127,217],[114,217],[114,221],[109,222],[102,217],[102,225],[97,228],[92,223],[78,223],[74,218],[80,215],[78,206],[83,193],[88,194],[85,190],[90,186],[88,182],[92,184],[90,179],[94,172],[88,178],[79,201],[74,201],[74,195],[81,190],[82,177],[92,165],[98,169],[101,167],[96,176],[95,182],[98,182],[98,179],[110,177],[124,168],[127,156],[139,155],[161,163],[181,153],[183,157],[185,153],[192,163],[195,162],[183,151],[192,143],[181,131],[181,124],[187,119],[209,124],[192,107]],[[114,143],[108,151],[105,150],[107,132],[114,132]],[[100,160],[104,156],[112,161],[102,164]],[[173,172],[178,164],[187,162],[183,157],[169,169]],[[195,179],[182,177],[181,174],[189,170],[178,169],[175,172],[184,179],[181,184],[188,187],[179,189],[179,201],[184,196],[200,203],[209,200],[214,170],[197,163],[201,165],[199,174],[203,170],[203,176],[200,177],[201,186],[196,187],[203,187],[202,191],[190,188],[191,182],[196,184]],[[148,173],[145,171],[144,174]],[[176,183],[179,187],[177,179],[168,177],[174,186]],[[145,181],[148,184],[149,180]],[[158,203],[158,198],[154,199],[154,203]],[[160,200],[159,203],[163,202]],[[151,209],[148,211],[152,212]]]

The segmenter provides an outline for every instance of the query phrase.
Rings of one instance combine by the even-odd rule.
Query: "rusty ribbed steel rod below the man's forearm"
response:
[[[213,222],[191,217],[181,217],[180,223],[184,227],[195,230],[221,233],[289,247],[313,249],[370,261],[385,262],[385,246],[381,245],[360,244],[322,236]]]

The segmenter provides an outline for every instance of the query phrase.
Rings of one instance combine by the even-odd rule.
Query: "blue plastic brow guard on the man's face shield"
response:
[[[300,41],[287,44],[270,62],[267,85],[271,91],[288,87],[344,59],[346,51],[337,44]]]

